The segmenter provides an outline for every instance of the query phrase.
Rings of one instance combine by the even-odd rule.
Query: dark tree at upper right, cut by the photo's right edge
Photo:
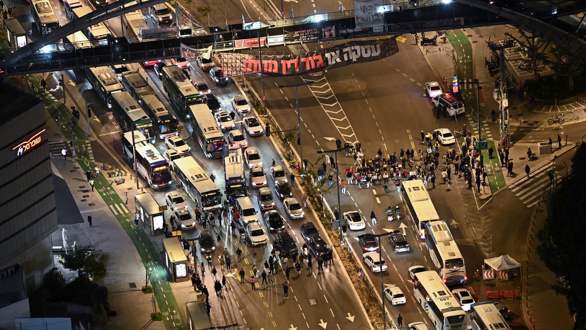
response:
[[[549,62],[558,76],[568,77],[568,90],[574,90],[574,77],[586,69],[586,46],[575,35],[567,33],[558,37],[560,43],[551,48],[556,62]]]

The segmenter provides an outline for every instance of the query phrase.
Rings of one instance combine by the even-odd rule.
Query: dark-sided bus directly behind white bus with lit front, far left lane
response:
[[[130,93],[124,91],[112,95],[112,114],[118,120],[124,132],[139,130],[151,142],[156,142],[156,135],[152,130],[152,119],[138,106]]]

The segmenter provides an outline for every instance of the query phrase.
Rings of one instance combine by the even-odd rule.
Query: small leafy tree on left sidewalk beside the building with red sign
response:
[[[63,256],[59,262],[63,267],[77,271],[78,274],[85,273],[86,277],[91,274],[94,278],[104,278],[108,275],[103,263],[103,256],[90,247],[74,247],[73,251]]]

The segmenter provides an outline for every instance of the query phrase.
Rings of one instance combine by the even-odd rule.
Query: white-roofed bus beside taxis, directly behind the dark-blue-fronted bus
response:
[[[214,120],[210,108],[206,104],[190,105],[188,113],[193,128],[193,136],[202,146],[206,157],[222,157],[222,147],[226,144],[226,139],[224,139],[222,130]]]

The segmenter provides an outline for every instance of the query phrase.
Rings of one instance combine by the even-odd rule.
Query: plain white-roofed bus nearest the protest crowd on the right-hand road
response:
[[[421,180],[403,181],[403,201],[407,213],[411,217],[415,230],[422,240],[425,238],[425,223],[427,221],[440,220],[435,211],[434,204],[431,203],[430,194]]]

